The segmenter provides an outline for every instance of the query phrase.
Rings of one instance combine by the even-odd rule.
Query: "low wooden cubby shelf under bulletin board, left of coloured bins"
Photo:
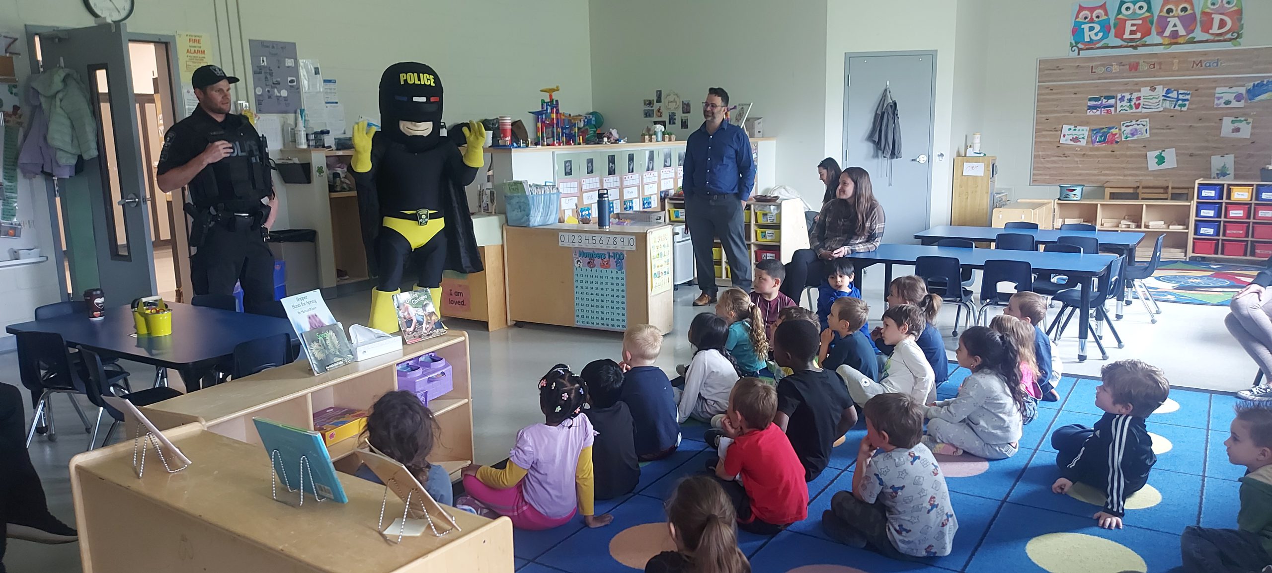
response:
[[[1054,201],[1054,199],[1053,199]],[[1160,201],[1160,199],[1081,199],[1081,201],[1054,201],[1054,220],[1052,229],[1060,229],[1065,222],[1088,222],[1095,225],[1102,231],[1136,231],[1144,233],[1144,240],[1136,249],[1136,260],[1146,260],[1152,257],[1152,246],[1158,241],[1158,235],[1165,235],[1161,241],[1161,258],[1178,259],[1187,258],[1189,248],[1189,227],[1192,217],[1191,201]],[[1133,227],[1119,227],[1117,222],[1112,226],[1104,225],[1108,221],[1135,221]],[[1186,225],[1184,229],[1149,229],[1147,221],[1163,221],[1169,225]]]

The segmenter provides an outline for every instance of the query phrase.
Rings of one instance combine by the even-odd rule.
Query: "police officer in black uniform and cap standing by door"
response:
[[[198,249],[190,258],[195,293],[232,295],[237,281],[244,311],[272,314],[273,254],[265,234],[277,198],[265,138],[245,117],[230,113],[230,84],[238,80],[218,66],[195,70],[198,108],[164,136],[159,188],[190,187],[190,245]]]

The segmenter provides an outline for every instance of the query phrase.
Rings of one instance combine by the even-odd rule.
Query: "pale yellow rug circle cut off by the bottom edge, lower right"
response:
[[[1144,558],[1126,545],[1086,534],[1039,535],[1025,544],[1025,554],[1048,573],[1149,570]]]

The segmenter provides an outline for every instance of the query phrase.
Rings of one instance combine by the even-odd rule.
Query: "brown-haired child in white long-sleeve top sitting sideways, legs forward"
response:
[[[883,380],[875,382],[851,366],[840,366],[836,372],[848,386],[852,401],[864,405],[871,398],[885,394],[904,394],[917,404],[936,398],[935,374],[916,339],[927,327],[923,311],[915,305],[897,305],[883,314],[883,342],[894,346],[892,357],[884,363]]]

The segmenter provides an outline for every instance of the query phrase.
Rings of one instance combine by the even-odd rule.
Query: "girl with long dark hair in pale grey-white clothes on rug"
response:
[[[958,365],[972,375],[958,395],[927,407],[923,443],[934,454],[1011,457],[1020,447],[1024,389],[1020,353],[1009,337],[972,327],[958,340]]]

